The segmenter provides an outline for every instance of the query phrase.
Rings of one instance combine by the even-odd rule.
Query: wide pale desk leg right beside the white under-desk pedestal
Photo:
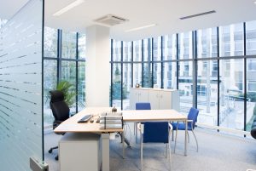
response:
[[[102,171],[109,171],[109,134],[102,134]]]

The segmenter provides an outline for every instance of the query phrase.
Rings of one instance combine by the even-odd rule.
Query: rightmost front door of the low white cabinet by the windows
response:
[[[172,92],[160,91],[159,109],[172,109]]]

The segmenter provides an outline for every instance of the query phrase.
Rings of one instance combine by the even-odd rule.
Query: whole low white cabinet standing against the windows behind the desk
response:
[[[179,111],[179,93],[173,89],[131,88],[130,106],[137,102],[149,102],[151,109],[175,109]]]

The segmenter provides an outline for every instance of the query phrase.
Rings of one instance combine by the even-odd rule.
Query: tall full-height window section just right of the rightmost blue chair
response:
[[[199,123],[218,125],[218,57],[217,27],[196,31],[197,108]]]

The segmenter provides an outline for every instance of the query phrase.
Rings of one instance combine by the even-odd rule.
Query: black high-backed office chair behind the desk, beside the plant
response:
[[[64,101],[64,94],[59,90],[50,91],[50,101],[49,106],[52,111],[55,121],[53,122],[53,129],[59,126],[63,121],[69,117],[69,107]],[[57,133],[55,133],[57,134]],[[65,133],[63,133],[65,134]],[[62,135],[63,135],[62,134]],[[52,147],[49,149],[49,153],[52,153],[53,150],[58,149],[58,146]],[[55,160],[58,160],[58,155],[55,157]]]

